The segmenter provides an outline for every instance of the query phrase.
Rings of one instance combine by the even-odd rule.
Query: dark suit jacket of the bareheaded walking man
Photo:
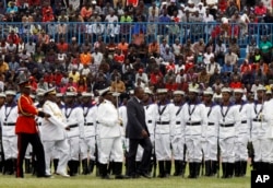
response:
[[[127,128],[126,136],[129,139],[143,139],[141,131],[144,129],[149,133],[145,111],[143,106],[139,103],[135,97],[132,97],[127,103]]]

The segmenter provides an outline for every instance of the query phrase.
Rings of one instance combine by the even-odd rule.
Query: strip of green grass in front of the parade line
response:
[[[0,175],[0,188],[250,188],[250,172],[247,177],[221,179],[216,177],[200,177],[188,179],[182,177],[169,178],[139,178],[123,180],[104,180],[94,175],[79,175],[63,178],[55,175],[54,178],[36,178],[26,175],[17,179],[14,176]]]

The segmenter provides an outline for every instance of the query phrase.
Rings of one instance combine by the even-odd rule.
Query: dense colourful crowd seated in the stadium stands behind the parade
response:
[[[273,16],[261,1],[7,0],[0,19],[0,92],[28,79],[37,98],[52,87],[98,96],[108,86],[167,89],[169,99],[211,87],[217,103],[223,87],[253,101],[264,86],[271,98],[272,26],[257,23]]]

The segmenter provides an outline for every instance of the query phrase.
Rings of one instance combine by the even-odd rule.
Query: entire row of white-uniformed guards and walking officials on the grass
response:
[[[186,177],[189,167],[189,178],[232,178],[246,176],[249,158],[254,171],[273,171],[273,99],[261,85],[253,101],[244,99],[242,89],[223,87],[217,103],[211,87],[171,97],[149,87],[134,89],[135,95],[106,87],[96,97],[78,97],[74,87],[32,96],[26,81],[20,89],[19,98],[15,91],[0,93],[5,175],[23,178],[35,168],[48,178],[166,178]]]

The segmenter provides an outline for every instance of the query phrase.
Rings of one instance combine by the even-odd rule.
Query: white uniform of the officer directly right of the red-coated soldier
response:
[[[44,118],[41,120],[40,126],[45,149],[46,174],[50,175],[50,161],[55,150],[59,153],[56,173],[67,174],[66,169],[70,158],[70,150],[66,132],[66,118],[59,106],[50,101],[45,102],[43,111],[50,115],[50,118]]]

